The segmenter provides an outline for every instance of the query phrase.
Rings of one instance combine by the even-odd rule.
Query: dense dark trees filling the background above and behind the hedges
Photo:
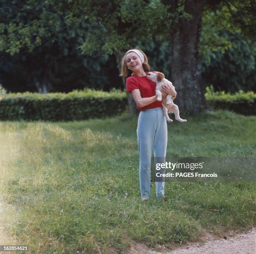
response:
[[[9,91],[123,88],[120,59],[133,47],[172,80],[188,113],[200,111],[211,83],[232,92],[255,84],[254,1],[1,3],[0,72]]]

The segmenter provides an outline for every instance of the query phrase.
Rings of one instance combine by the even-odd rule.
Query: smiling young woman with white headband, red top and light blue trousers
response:
[[[150,70],[148,59],[139,48],[128,50],[122,59],[120,76],[128,77],[126,90],[131,92],[137,108],[138,117],[137,138],[140,156],[139,177],[141,198],[147,200],[150,196],[151,154],[155,157],[166,156],[167,123],[162,111],[161,101],[157,101],[156,83],[148,80]],[[169,86],[163,87],[164,93],[171,93]],[[164,182],[156,182],[156,196],[164,197]]]

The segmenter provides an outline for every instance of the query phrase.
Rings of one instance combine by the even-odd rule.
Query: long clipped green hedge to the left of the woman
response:
[[[114,116],[125,110],[122,91],[70,93],[8,93],[0,99],[0,120],[74,121]]]

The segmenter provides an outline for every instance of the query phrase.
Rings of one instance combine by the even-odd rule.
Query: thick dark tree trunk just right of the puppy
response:
[[[192,15],[192,19],[179,20],[170,33],[172,82],[177,91],[175,103],[179,106],[181,115],[199,113],[205,106],[205,98],[200,86],[201,73],[198,67],[204,2],[205,0],[186,0],[184,10]],[[172,3],[177,4],[177,0]]]

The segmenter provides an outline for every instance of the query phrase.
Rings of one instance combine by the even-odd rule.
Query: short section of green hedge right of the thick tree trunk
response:
[[[208,106],[213,109],[227,109],[243,115],[256,115],[256,94],[239,91],[235,94],[214,92],[213,87],[206,88],[205,98]]]

